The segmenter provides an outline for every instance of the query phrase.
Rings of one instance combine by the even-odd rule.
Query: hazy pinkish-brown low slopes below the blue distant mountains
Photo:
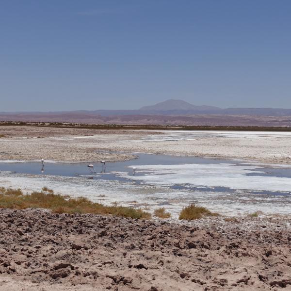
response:
[[[112,113],[114,114],[114,113]],[[156,124],[206,126],[290,127],[290,116],[250,116],[219,114],[134,114],[102,116],[94,113],[0,113],[0,121],[81,122],[88,124]]]

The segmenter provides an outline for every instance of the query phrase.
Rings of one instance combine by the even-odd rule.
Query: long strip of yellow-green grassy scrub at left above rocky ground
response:
[[[95,213],[112,214],[122,217],[149,219],[150,213],[140,209],[120,206],[105,206],[94,203],[91,200],[79,197],[69,198],[60,194],[54,194],[53,190],[44,187],[41,192],[24,194],[20,189],[0,188],[0,208],[26,209],[46,208],[56,213]]]

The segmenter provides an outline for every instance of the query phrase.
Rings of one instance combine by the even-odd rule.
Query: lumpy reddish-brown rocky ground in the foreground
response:
[[[291,290],[291,219],[0,210],[0,290]]]

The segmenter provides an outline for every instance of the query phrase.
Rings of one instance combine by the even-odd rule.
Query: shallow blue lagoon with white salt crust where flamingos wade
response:
[[[174,216],[190,202],[227,215],[262,210],[291,213],[291,168],[253,162],[136,154],[126,162],[1,162],[0,186],[56,193],[130,206],[157,206]],[[133,175],[133,167],[136,168]]]

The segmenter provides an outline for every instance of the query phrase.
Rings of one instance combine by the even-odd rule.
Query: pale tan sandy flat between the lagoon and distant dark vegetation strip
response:
[[[142,152],[291,163],[290,135],[245,138],[204,134],[194,140],[156,141],[152,139],[163,133],[37,127],[0,127],[0,134],[6,136],[0,138],[0,160],[121,161],[133,158],[132,152]]]

